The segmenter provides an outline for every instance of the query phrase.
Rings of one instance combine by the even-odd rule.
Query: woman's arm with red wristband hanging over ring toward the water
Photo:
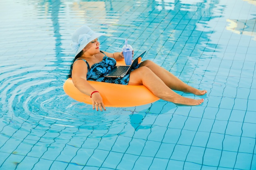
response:
[[[87,72],[88,68],[86,62],[83,60],[76,60],[74,62],[72,68],[72,81],[74,86],[85,95],[91,96],[92,92],[97,91],[97,89],[87,82]],[[101,111],[102,109],[106,110],[100,93],[92,94],[92,108],[96,108],[96,110],[100,109]]]

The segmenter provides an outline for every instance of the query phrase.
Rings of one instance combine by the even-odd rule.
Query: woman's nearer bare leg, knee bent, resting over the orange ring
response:
[[[200,105],[204,99],[191,99],[183,97],[171,90],[150,68],[141,66],[130,73],[128,85],[144,85],[155,96],[168,102],[184,105]]]

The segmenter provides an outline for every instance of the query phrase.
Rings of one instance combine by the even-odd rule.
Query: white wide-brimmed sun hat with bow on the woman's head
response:
[[[72,50],[74,51],[75,56],[80,53],[83,48],[87,44],[89,44],[89,42],[95,40],[96,38],[99,38],[101,35],[104,34],[105,33],[95,33],[86,25],[83,25],[79,29],[76,29],[76,31],[72,35]]]

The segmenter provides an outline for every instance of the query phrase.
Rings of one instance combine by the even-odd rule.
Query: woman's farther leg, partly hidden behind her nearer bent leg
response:
[[[193,88],[184,82],[182,82],[179,78],[177,78],[175,75],[167,71],[166,69],[162,68],[161,66],[158,66],[154,62],[150,60],[146,60],[141,63],[141,66],[148,67],[153,73],[155,73],[162,81],[171,89],[176,91],[182,91],[187,93],[193,93],[195,95],[204,95],[207,93],[207,91],[203,90],[200,91],[196,88]]]

